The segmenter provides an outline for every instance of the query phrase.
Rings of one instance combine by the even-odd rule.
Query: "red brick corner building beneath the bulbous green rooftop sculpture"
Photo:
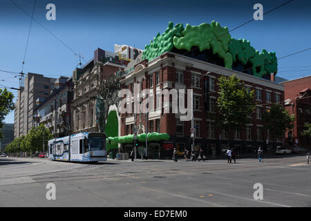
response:
[[[207,72],[210,72],[209,110],[205,109],[204,80],[202,78],[202,75]],[[254,148],[258,146],[262,146],[265,151],[272,152],[275,146],[272,148],[271,141],[268,141],[267,144],[268,135],[261,116],[263,111],[270,108],[273,103],[283,102],[284,86],[282,84],[230,70],[193,57],[179,55],[176,52],[164,52],[151,61],[145,59],[138,62],[131,70],[124,73],[121,82],[123,88],[129,88],[132,91],[134,83],[140,84],[141,89],[151,88],[156,109],[163,108],[156,106],[157,89],[189,89],[193,87],[194,126],[196,127],[195,149],[198,150],[201,147],[209,157],[214,157],[222,155],[222,150],[228,147],[229,135],[227,131],[216,128],[216,122],[209,116],[217,114],[215,110],[216,99],[218,98],[218,78],[222,75],[229,77],[233,74],[244,81],[246,87],[255,90],[256,111],[249,116],[251,124],[245,125],[243,130],[232,134],[234,139],[231,146],[234,146],[241,154],[253,153]],[[274,75],[272,75],[273,79]],[[195,83],[191,85],[191,81]],[[185,97],[187,104],[187,95]],[[170,100],[170,105],[171,102],[172,100]],[[128,99],[127,105],[131,105],[130,103]],[[191,120],[182,122],[179,116],[179,114],[171,113],[171,111],[170,113],[149,112],[148,132],[168,133],[170,135],[170,139],[167,141],[149,144],[149,157],[157,158],[159,155],[160,157],[171,157],[171,149],[167,146],[176,147],[179,154],[182,154],[182,150],[185,148],[191,150],[191,144],[189,144]],[[121,135],[133,134],[135,125],[138,126],[138,134],[144,133],[144,128],[147,126],[146,115],[142,113],[137,115],[124,113],[120,115],[120,119]],[[283,140],[278,140],[276,145],[282,145],[282,142]],[[132,147],[132,144],[122,144],[123,151],[129,151]]]

